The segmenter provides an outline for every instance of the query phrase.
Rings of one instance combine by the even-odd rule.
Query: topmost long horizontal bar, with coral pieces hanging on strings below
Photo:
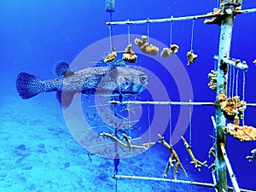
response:
[[[256,12],[256,9],[244,9],[236,11],[235,14],[249,14]],[[179,20],[197,20],[197,19],[204,19],[209,17],[216,17],[220,16],[221,13],[209,13],[206,15],[193,15],[193,16],[183,16],[183,17],[170,17],[164,19],[156,19],[156,20],[125,20],[125,21],[111,21],[106,22],[106,25],[137,25],[137,24],[145,24],[145,23],[164,23],[170,21],[179,21]]]

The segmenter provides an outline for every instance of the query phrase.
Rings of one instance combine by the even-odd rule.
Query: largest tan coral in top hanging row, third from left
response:
[[[159,51],[159,48],[153,44],[148,45],[148,37],[143,35],[142,40],[139,38],[135,39],[135,44],[143,51],[144,54],[156,55]]]

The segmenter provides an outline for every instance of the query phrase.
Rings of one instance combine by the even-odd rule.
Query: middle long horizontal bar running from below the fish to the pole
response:
[[[210,105],[215,106],[215,102],[140,102],[140,101],[110,101],[112,104],[148,104],[148,105]]]

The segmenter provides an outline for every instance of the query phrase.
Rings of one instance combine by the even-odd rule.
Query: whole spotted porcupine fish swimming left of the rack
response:
[[[29,99],[42,92],[56,91],[56,98],[62,108],[67,108],[76,93],[138,94],[146,89],[147,75],[130,67],[88,67],[73,72],[66,62],[55,64],[54,73],[58,79],[40,80],[29,73],[19,73],[16,89],[22,99]],[[63,99],[65,98],[65,99]]]

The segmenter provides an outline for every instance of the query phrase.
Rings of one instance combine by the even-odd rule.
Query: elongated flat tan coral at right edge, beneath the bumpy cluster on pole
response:
[[[256,129],[252,126],[228,124],[224,127],[224,131],[241,142],[256,141]]]

